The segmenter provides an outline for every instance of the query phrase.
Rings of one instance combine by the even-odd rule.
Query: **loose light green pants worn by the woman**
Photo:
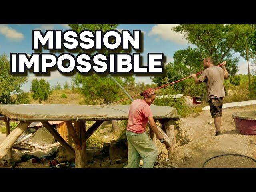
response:
[[[126,131],[128,141],[128,168],[138,168],[141,158],[142,168],[153,168],[158,149],[146,132],[134,133]]]

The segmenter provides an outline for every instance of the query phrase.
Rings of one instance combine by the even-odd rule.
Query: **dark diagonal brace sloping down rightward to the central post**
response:
[[[41,122],[43,124],[43,126],[50,132],[50,134],[52,134],[52,136],[54,136],[54,138],[56,138],[56,140],[68,151],[70,152],[70,154],[75,156],[75,152],[74,149],[72,147],[69,146],[69,144],[62,138],[62,136],[60,136],[60,134],[58,134],[58,132],[50,125],[49,122],[45,121],[45,122]]]

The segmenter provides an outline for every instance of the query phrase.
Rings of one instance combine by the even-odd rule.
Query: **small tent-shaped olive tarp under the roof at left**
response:
[[[32,135],[29,141],[40,145],[53,144],[55,138],[45,127],[41,127],[38,128],[38,130]]]

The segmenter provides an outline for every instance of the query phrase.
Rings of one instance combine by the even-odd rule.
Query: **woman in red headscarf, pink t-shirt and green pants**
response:
[[[158,134],[157,125],[153,119],[150,105],[154,103],[156,93],[148,88],[140,94],[143,99],[132,102],[129,110],[126,136],[128,141],[128,168],[138,168],[141,158],[142,168],[153,168],[158,155],[158,149],[146,133],[149,122],[158,139],[163,136]]]

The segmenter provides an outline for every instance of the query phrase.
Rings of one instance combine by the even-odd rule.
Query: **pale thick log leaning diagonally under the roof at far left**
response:
[[[8,150],[16,142],[19,136],[28,128],[31,122],[20,122],[16,128],[0,144],[0,160],[7,154]]]

